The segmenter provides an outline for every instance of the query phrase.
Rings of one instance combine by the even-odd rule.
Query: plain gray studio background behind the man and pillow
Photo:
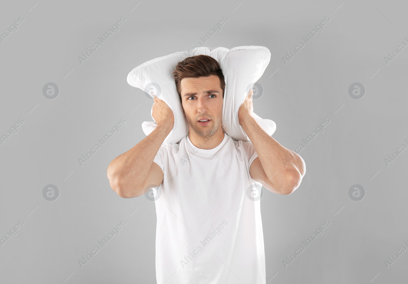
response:
[[[307,170],[299,188],[286,196],[264,192],[266,282],[406,283],[408,251],[384,263],[408,249],[408,150],[384,161],[408,146],[408,48],[389,64],[384,59],[408,44],[406,2],[138,3],[1,4],[1,33],[24,21],[0,44],[0,134],[24,123],[0,146],[0,237],[19,220],[24,225],[0,247],[0,282],[155,283],[155,205],[144,196],[120,198],[106,169],[145,137],[141,123],[151,121],[153,101],[127,84],[129,71],[201,42],[269,48],[254,112],[275,121],[273,138],[285,147],[295,150],[330,119],[300,152]],[[122,16],[120,31],[80,64],[82,52]],[[222,30],[203,43],[224,16]],[[326,16],[324,30],[285,64],[286,52]],[[42,93],[49,82],[60,88],[55,99]],[[348,93],[355,82],[366,88],[361,99]],[[81,166],[82,154],[122,118],[120,132]],[[42,194],[49,184],[60,191],[52,202]],[[364,187],[363,200],[349,197],[355,184]],[[81,268],[82,256],[121,220],[120,234]],[[286,256],[325,220],[324,234],[285,268]]]

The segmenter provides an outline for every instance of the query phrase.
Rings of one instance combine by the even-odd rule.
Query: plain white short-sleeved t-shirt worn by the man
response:
[[[266,283],[262,184],[249,174],[257,157],[251,142],[226,133],[210,150],[188,135],[160,146],[153,160],[164,174],[153,189],[157,284]]]

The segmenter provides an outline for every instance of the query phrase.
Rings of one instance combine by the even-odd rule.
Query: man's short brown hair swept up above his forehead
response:
[[[221,82],[222,98],[224,99],[225,79],[222,74],[220,64],[213,57],[209,55],[194,55],[185,58],[183,61],[177,63],[173,71],[173,77],[176,83],[177,92],[181,100],[181,80],[183,78],[198,78],[209,77],[211,75],[218,76]]]

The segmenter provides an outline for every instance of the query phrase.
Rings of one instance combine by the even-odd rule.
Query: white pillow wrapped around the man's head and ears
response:
[[[153,95],[167,103],[174,113],[174,126],[163,143],[179,143],[188,135],[188,124],[171,73],[178,62],[186,57],[200,54],[216,59],[224,74],[226,86],[222,108],[222,129],[237,141],[251,141],[239,124],[238,108],[269,64],[271,52],[265,46],[237,46],[231,49],[217,47],[213,50],[202,46],[194,48],[190,53],[188,51],[172,53],[140,64],[128,74],[127,82],[133,87],[144,90],[145,95],[152,98],[153,103]],[[152,112],[153,106],[150,113]],[[275,122],[262,119],[255,113],[253,118],[266,133],[272,136],[276,130]],[[146,136],[157,127],[157,123],[153,121],[142,123]]]

